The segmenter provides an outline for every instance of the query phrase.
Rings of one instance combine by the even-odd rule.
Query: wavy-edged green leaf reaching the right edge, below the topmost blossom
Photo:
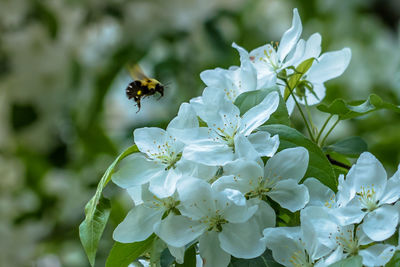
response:
[[[400,113],[400,107],[383,101],[379,96],[371,94],[365,101],[346,103],[343,99],[335,99],[330,105],[320,104],[317,108],[326,113],[338,115],[341,120],[356,118],[380,109],[388,109]]]

